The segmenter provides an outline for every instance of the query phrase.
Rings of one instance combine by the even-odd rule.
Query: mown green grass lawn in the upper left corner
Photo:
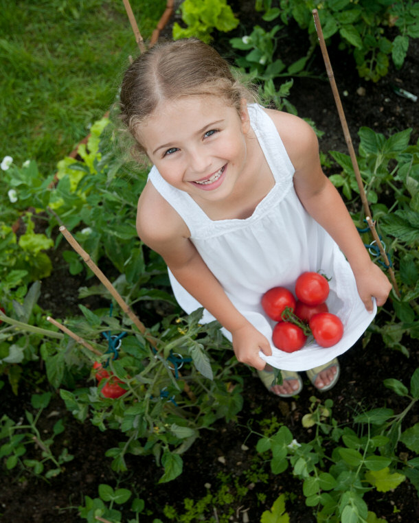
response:
[[[150,38],[166,0],[131,0]],[[138,53],[122,0],[0,0],[0,161],[49,174],[115,100]]]

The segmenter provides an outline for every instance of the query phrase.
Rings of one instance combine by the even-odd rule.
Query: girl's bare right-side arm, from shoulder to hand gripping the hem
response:
[[[273,113],[271,116],[295,167],[294,186],[299,200],[339,245],[354,272],[359,295],[366,309],[372,312],[372,297],[377,305],[383,305],[392,285],[372,262],[339,192],[321,169],[319,144],[313,129],[293,115]]]

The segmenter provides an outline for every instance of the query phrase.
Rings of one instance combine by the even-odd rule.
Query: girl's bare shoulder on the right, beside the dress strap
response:
[[[298,116],[274,109],[265,109],[265,111],[275,124],[296,170],[304,157],[318,155],[319,142],[317,136],[306,121]]]

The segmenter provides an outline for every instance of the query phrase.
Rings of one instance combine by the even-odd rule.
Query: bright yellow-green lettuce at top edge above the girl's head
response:
[[[185,0],[180,7],[183,28],[179,23],[173,24],[173,39],[196,36],[203,42],[210,42],[211,32],[229,32],[238,25],[238,19],[227,5],[227,0]]]

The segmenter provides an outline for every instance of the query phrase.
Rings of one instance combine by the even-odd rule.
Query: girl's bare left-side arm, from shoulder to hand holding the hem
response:
[[[269,341],[231,303],[189,240],[188,227],[150,185],[140,198],[137,231],[141,240],[163,257],[181,286],[231,333],[238,361],[264,369],[266,362],[259,351],[271,356]]]

